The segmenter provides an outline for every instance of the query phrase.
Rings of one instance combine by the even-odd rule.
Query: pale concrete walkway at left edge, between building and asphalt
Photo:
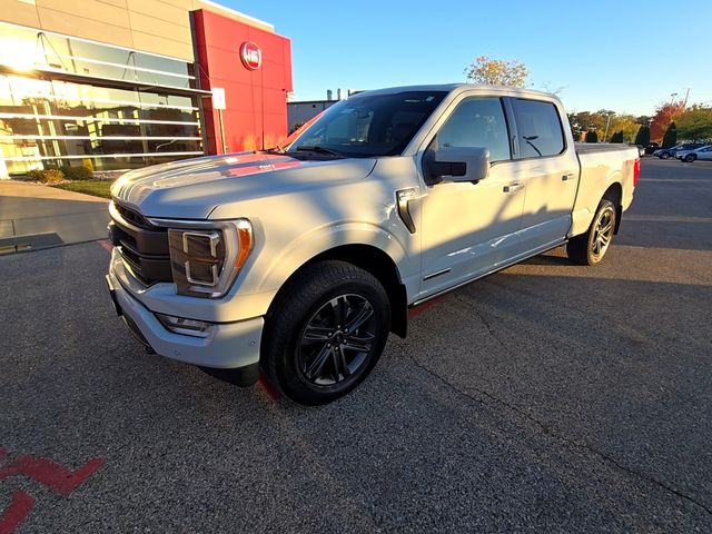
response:
[[[103,198],[0,180],[0,254],[102,239],[108,222]]]

